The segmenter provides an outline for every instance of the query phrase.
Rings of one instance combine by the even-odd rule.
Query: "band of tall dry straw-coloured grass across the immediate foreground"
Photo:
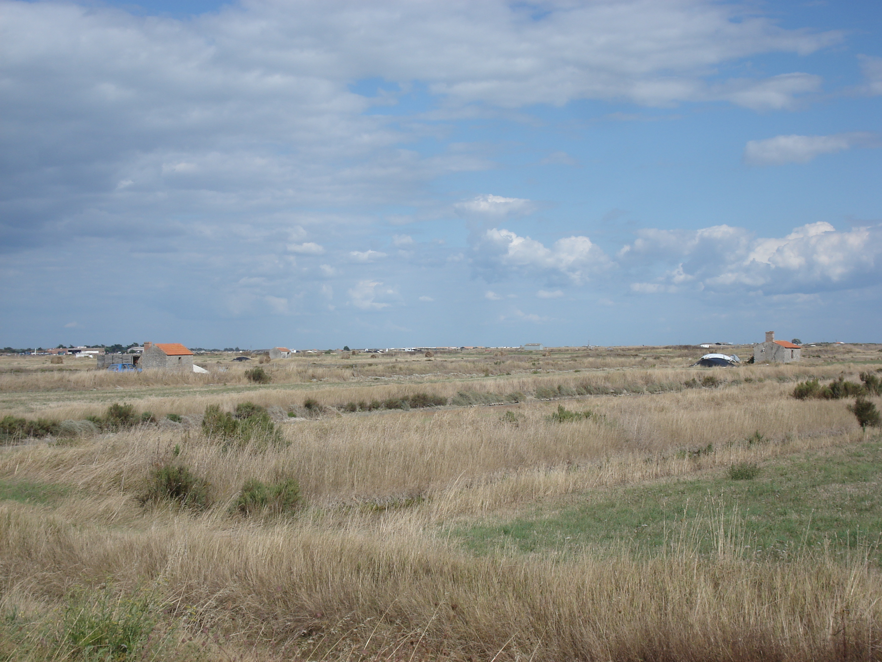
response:
[[[716,538],[702,556],[693,538]],[[744,559],[732,531],[667,553],[472,558],[418,531],[308,523],[217,530],[73,527],[0,507],[0,575],[60,598],[71,578],[161,587],[168,611],[265,659],[856,660],[878,658],[882,589],[856,550]],[[236,648],[236,647],[241,648]]]

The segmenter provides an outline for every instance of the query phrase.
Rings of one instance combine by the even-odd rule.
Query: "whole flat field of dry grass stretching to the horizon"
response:
[[[0,357],[0,660],[882,658],[882,350],[703,351]]]

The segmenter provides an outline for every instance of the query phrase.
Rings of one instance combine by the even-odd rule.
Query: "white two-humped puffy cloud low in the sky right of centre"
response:
[[[574,283],[612,266],[588,237],[558,239],[550,248],[507,229],[488,229],[473,247],[475,265],[486,271],[556,272]]]

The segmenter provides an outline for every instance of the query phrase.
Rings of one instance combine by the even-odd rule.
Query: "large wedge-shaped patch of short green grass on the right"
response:
[[[710,517],[744,528],[753,555],[786,558],[804,546],[844,550],[882,535],[882,440],[761,463],[751,480],[728,469],[579,495],[559,508],[454,530],[468,549],[539,553],[627,545],[659,551],[687,529],[710,533]],[[713,537],[699,542],[709,550]],[[878,548],[876,560],[882,560]]]

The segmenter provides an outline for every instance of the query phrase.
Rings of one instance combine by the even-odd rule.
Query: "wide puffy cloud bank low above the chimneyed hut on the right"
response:
[[[753,237],[744,228],[693,231],[640,230],[620,252],[634,267],[651,260],[675,262],[663,275],[633,282],[643,293],[682,290],[811,294],[882,282],[882,226],[838,231],[826,222],[794,229],[785,237]]]

